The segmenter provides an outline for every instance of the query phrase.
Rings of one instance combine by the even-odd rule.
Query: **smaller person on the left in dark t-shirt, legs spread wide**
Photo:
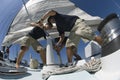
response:
[[[33,49],[40,53],[41,59],[43,64],[46,64],[46,53],[45,49],[42,47],[42,45],[37,41],[37,39],[44,37],[46,38],[46,34],[43,29],[49,29],[50,27],[43,26],[41,22],[33,22],[30,24],[31,26],[34,26],[34,28],[25,36],[24,40],[21,42],[21,50],[19,52],[17,61],[16,61],[16,68],[19,68],[20,61],[22,60],[25,52],[28,50],[29,46],[31,45]]]

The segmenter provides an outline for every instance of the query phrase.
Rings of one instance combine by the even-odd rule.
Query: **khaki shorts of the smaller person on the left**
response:
[[[34,38],[32,38],[31,36],[27,35],[24,37],[24,39],[21,41],[21,46],[26,46],[26,47],[30,47],[32,46],[33,49],[38,52],[40,50],[43,50],[44,48],[42,47],[42,45]]]

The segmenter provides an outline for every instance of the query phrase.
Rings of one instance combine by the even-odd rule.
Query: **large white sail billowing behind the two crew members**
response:
[[[9,46],[14,43],[19,43],[24,35],[26,35],[33,28],[29,25],[29,23],[39,20],[46,11],[51,9],[63,14],[77,15],[86,20],[88,25],[94,27],[96,27],[101,21],[100,17],[93,17],[87,14],[79,7],[76,7],[76,5],[70,0],[30,0],[17,14],[10,26],[8,35],[6,35],[3,40],[3,45]],[[57,34],[56,31],[49,32],[52,35]]]

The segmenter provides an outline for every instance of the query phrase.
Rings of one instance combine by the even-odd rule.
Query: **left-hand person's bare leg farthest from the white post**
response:
[[[28,49],[27,47],[22,47],[21,48],[21,50],[20,50],[20,52],[18,54],[17,61],[16,61],[16,65],[15,65],[16,68],[19,68],[20,61],[22,60],[22,58],[23,58],[25,52],[27,51],[27,49]]]

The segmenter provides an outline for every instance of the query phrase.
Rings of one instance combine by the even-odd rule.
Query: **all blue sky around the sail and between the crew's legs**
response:
[[[14,13],[14,15],[16,15],[19,9],[21,8],[21,1],[19,0],[15,0],[15,2],[12,2],[13,5],[9,4],[11,3],[12,0],[1,0],[0,3],[0,43],[2,42],[2,39],[4,38],[4,35],[6,34],[5,32],[8,30],[8,27],[3,27],[5,25],[5,23],[11,23],[12,21],[9,21],[9,19],[13,19],[13,15],[11,15],[11,17],[6,17],[7,14],[9,13]],[[17,2],[18,1],[18,2]],[[82,10],[84,10],[85,12],[87,12],[88,14],[92,15],[92,16],[99,16],[101,18],[105,18],[107,15],[109,15],[110,13],[117,13],[118,15],[120,15],[120,0],[71,0],[72,2],[74,2],[76,4],[76,6],[80,7]],[[7,6],[7,8],[3,8]],[[18,8],[14,8],[14,10],[12,10],[9,6],[18,6]],[[6,11],[4,11],[4,9]],[[10,12],[7,12],[8,9],[11,9]],[[5,18],[8,18],[8,20],[6,20]],[[6,25],[8,26],[8,25]],[[41,42],[43,45],[46,44],[45,41]],[[82,58],[84,58],[84,47],[87,44],[83,43],[82,41],[80,41],[80,45],[79,45],[79,49],[78,49],[78,53],[79,55],[82,56]],[[16,45],[12,46],[10,49],[10,59],[13,59],[16,57],[16,53],[18,53],[20,47],[15,47]],[[17,45],[19,46],[19,45]],[[67,56],[66,56],[66,50],[65,48],[61,51],[61,56],[62,56],[62,61],[64,63],[67,62]],[[35,53],[33,51],[33,49],[30,47],[30,50],[27,52],[27,54],[25,54],[24,58],[25,60],[29,61],[29,55],[32,54],[33,58],[36,58],[39,62],[41,62],[40,57],[37,53]],[[55,53],[56,55],[56,53]],[[55,56],[57,59],[57,56]]]

